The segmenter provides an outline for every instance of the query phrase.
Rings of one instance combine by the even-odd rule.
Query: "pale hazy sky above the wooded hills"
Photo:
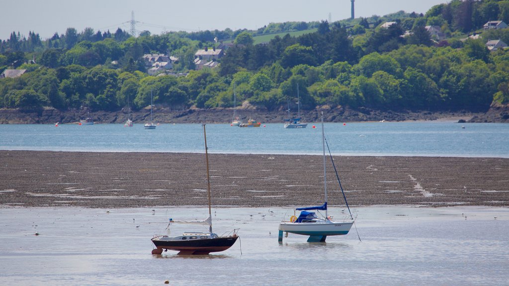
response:
[[[426,13],[446,0],[355,0],[355,17],[369,17],[404,10]],[[118,27],[130,31],[131,11],[137,31],[159,34],[164,31],[254,30],[271,22],[332,21],[350,17],[350,0],[16,0],[0,3],[0,39],[20,32],[39,33],[44,40],[68,27],[79,32],[91,27],[95,32]]]

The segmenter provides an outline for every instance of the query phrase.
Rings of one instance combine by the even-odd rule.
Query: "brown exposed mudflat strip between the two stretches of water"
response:
[[[313,155],[209,154],[212,204],[323,203]],[[509,206],[509,159],[334,156],[352,206]],[[207,205],[204,154],[0,151],[0,206]],[[344,205],[330,160],[328,203]]]

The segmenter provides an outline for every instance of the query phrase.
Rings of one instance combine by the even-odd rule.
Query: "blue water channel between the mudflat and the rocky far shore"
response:
[[[321,129],[285,129],[282,124],[239,128],[207,125],[211,153],[321,154]],[[462,128],[465,127],[465,128]],[[453,122],[325,124],[336,155],[460,156],[509,158],[509,124]],[[1,150],[99,152],[203,152],[200,124],[79,126],[0,125]]]

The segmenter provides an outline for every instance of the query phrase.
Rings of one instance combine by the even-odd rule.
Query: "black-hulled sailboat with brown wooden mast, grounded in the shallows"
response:
[[[207,162],[207,193],[209,197],[209,217],[205,220],[194,221],[177,221],[169,219],[168,235],[160,235],[152,238],[152,243],[156,246],[152,250],[152,254],[161,254],[164,251],[176,250],[177,254],[209,254],[210,252],[224,251],[230,248],[239,238],[237,235],[238,228],[228,232],[228,235],[218,236],[212,232],[212,211],[211,211],[211,194],[210,194],[210,176],[209,176],[209,155],[207,152],[207,135],[205,132],[205,124],[203,126],[203,135],[205,138],[205,160]],[[209,232],[185,232],[181,236],[170,237],[169,225],[173,222],[209,225]]]

